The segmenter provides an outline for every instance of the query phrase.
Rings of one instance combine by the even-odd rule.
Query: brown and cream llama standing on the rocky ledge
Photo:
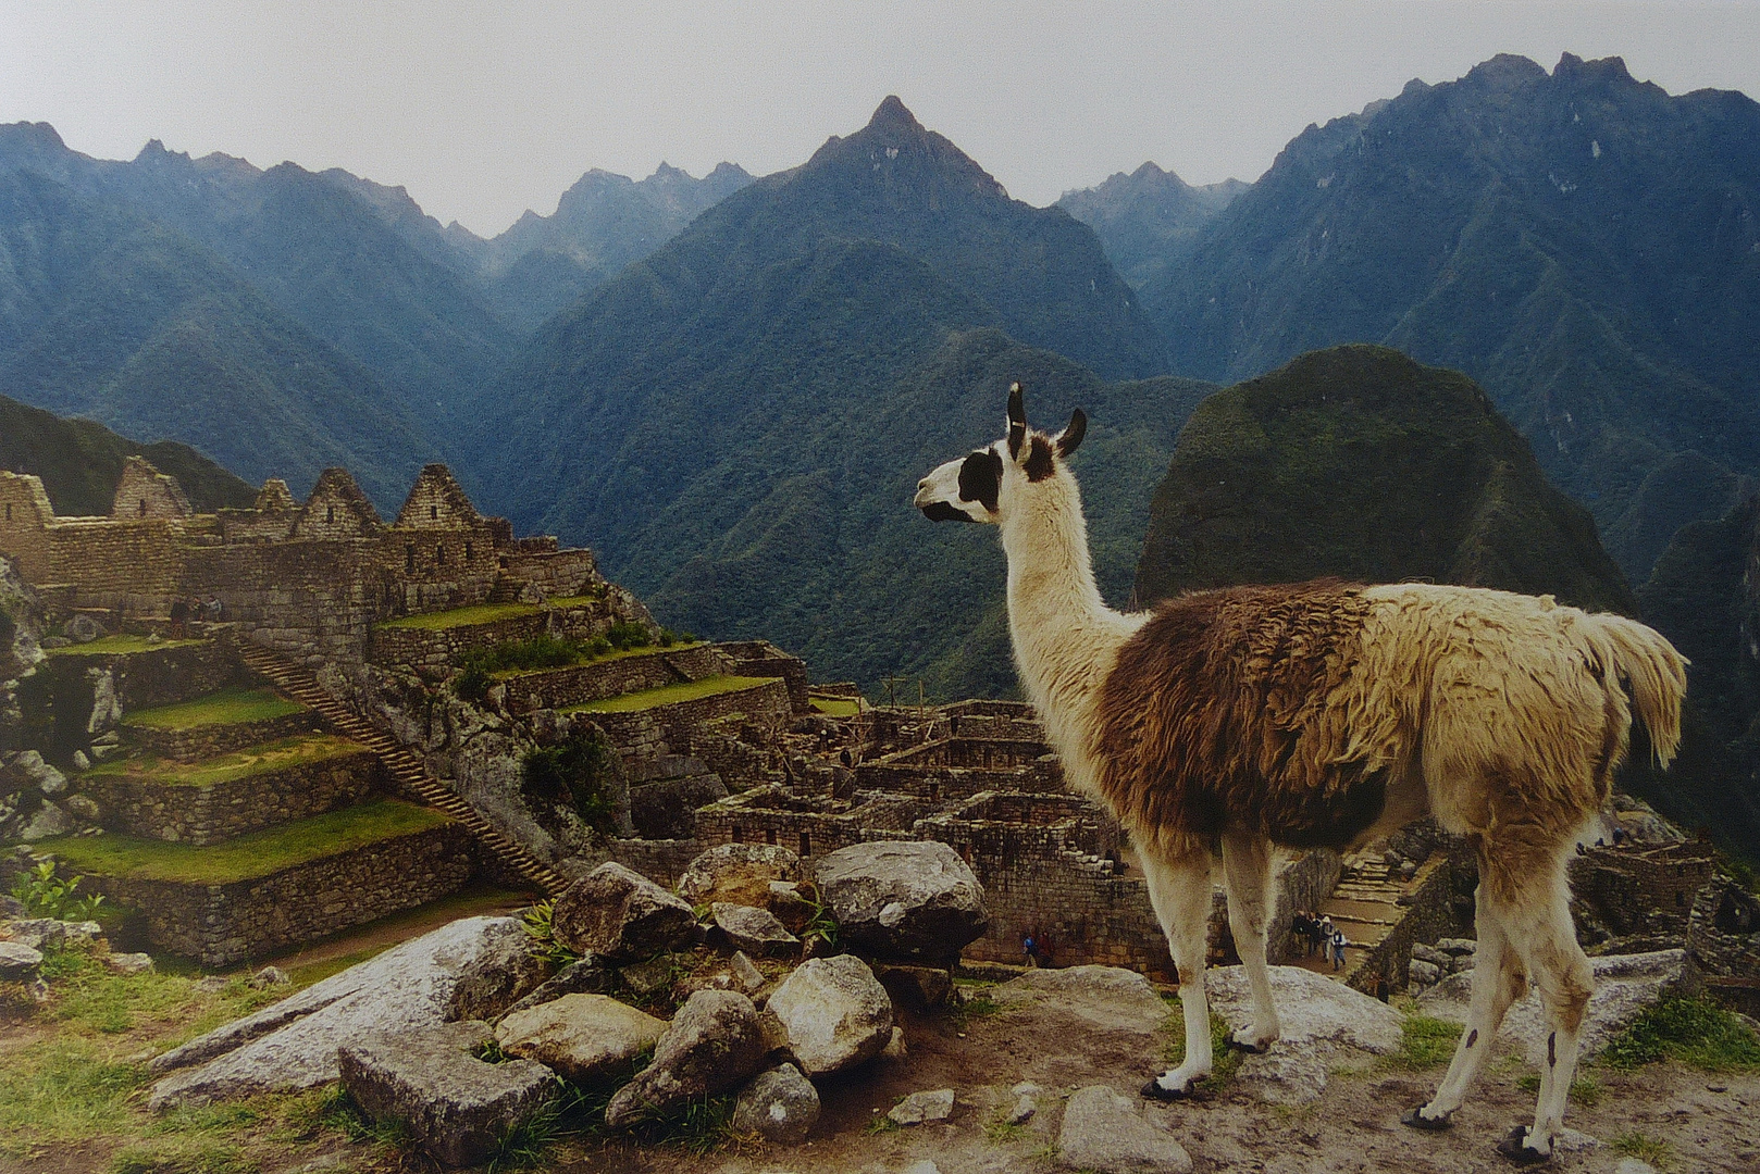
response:
[[[1478,966],[1448,1072],[1403,1121],[1450,1125],[1533,975],[1547,1067],[1533,1125],[1498,1149],[1545,1162],[1593,993],[1565,864],[1609,797],[1633,702],[1658,764],[1672,759],[1686,660],[1632,620],[1484,588],[1318,581],[1111,611],[1065,466],[1086,426],[1077,408],[1056,437],[1030,429],[1016,384],[1007,437],[933,470],[913,505],[931,521],[1000,528],[1026,697],[1070,783],[1137,845],[1186,1026],[1183,1061],[1144,1095],[1188,1097],[1211,1070],[1214,850],[1251,989],[1251,1019],[1230,1044],[1264,1051],[1280,1033],[1265,970],[1272,850],[1345,848],[1431,813],[1478,855]]]

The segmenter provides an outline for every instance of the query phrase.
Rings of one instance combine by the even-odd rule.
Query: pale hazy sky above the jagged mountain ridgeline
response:
[[[887,93],[1045,204],[1146,158],[1257,178],[1309,121],[1494,53],[1760,95],[1760,0],[18,4],[0,121],[401,183],[495,234],[588,167],[792,167]]]

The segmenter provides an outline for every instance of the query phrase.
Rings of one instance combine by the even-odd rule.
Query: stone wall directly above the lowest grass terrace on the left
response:
[[[378,759],[363,748],[225,783],[83,774],[74,785],[97,799],[111,831],[201,847],[352,806],[380,790],[384,778]]]

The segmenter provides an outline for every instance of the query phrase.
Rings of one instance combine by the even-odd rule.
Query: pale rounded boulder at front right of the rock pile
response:
[[[892,1038],[892,1000],[854,954],[813,958],[783,979],[766,1003],[801,1070],[843,1072],[880,1054]]]

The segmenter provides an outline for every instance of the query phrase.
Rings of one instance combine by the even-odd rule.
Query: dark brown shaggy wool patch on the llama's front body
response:
[[[1380,818],[1389,766],[1346,759],[1338,693],[1373,604],[1339,581],[1197,591],[1121,649],[1096,706],[1100,790],[1126,827],[1339,847]]]

